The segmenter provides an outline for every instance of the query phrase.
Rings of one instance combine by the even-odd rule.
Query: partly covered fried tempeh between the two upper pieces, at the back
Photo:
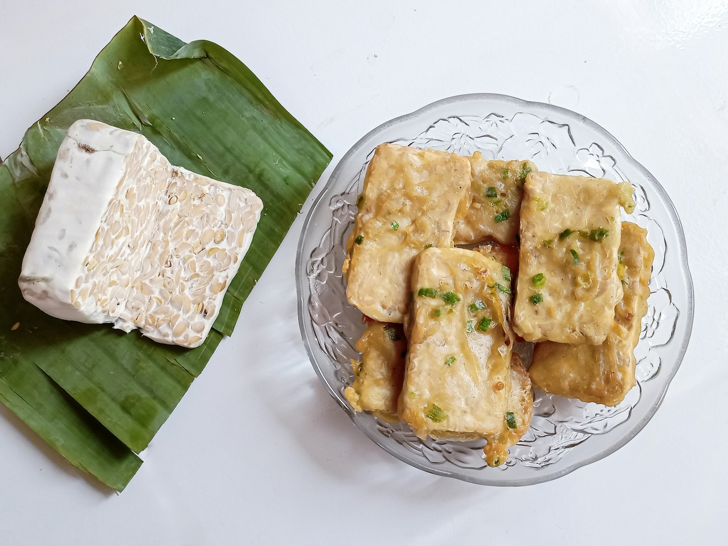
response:
[[[518,244],[518,213],[523,181],[537,171],[530,161],[488,161],[476,151],[472,166],[472,200],[455,223],[455,244],[469,245],[488,238],[502,245]]]

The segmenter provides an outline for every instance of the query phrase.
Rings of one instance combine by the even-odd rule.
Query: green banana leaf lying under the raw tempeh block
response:
[[[173,164],[246,186],[264,202],[253,244],[197,349],[57,320],[20,295],[23,253],[58,146],[82,118],[141,132]],[[330,161],[240,60],[133,17],[0,165],[0,400],[71,463],[121,490],[138,468],[132,452],[146,448],[232,333],[242,302]]]

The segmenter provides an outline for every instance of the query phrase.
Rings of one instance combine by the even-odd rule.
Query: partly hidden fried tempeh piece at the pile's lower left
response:
[[[362,357],[359,362],[352,360],[355,379],[344,396],[355,411],[371,411],[390,423],[399,421],[397,398],[407,353],[402,325],[373,322],[356,347]]]

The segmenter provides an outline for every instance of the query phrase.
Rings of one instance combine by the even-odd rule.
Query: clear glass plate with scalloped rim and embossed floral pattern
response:
[[[638,383],[614,408],[535,391],[531,429],[500,467],[483,460],[483,441],[419,440],[404,424],[355,413],[344,397],[349,359],[364,330],[347,303],[341,265],[373,149],[384,142],[472,154],[532,159],[539,170],[630,181],[637,206],[625,219],[647,229],[655,258],[649,309],[636,349]],[[685,237],[660,183],[609,132],[565,108],[505,95],[459,95],[392,119],[341,159],[306,218],[296,259],[298,321],[314,370],[356,426],[385,451],[434,474],[491,486],[553,480],[607,456],[645,426],[660,406],[687,349],[692,280]],[[528,349],[529,347],[521,347]],[[522,352],[522,351],[521,351]],[[529,355],[524,355],[528,362]]]

